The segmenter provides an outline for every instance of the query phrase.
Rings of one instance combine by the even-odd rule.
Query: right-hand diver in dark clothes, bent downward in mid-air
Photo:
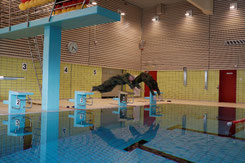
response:
[[[152,95],[155,95],[154,90],[157,91],[157,94],[160,96],[160,90],[158,88],[158,84],[156,82],[156,80],[153,79],[153,77],[146,72],[142,72],[140,73],[134,80],[133,80],[133,85],[134,87],[137,87],[138,89],[140,89],[140,83],[144,82],[150,89]]]

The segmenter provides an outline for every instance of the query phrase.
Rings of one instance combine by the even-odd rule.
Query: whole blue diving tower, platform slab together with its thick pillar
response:
[[[61,32],[120,21],[120,14],[94,6],[0,29],[0,39],[44,34],[42,110],[59,109]]]

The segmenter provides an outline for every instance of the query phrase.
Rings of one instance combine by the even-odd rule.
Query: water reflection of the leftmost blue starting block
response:
[[[26,127],[26,116],[24,114],[19,115],[8,115],[8,121],[3,121],[3,125],[8,126],[8,136],[26,136],[31,135],[31,127],[32,121],[30,121],[30,125]],[[28,131],[28,129],[30,131]]]

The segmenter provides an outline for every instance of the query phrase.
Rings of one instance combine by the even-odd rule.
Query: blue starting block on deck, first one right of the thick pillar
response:
[[[94,95],[94,93],[75,91],[75,99],[69,99],[69,101],[75,103],[75,109],[86,109],[87,105],[93,105],[93,98],[90,95]],[[91,103],[87,103],[88,100],[91,100]]]

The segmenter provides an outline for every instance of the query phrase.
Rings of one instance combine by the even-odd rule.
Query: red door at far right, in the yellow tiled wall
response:
[[[219,102],[236,103],[236,70],[220,70]]]

